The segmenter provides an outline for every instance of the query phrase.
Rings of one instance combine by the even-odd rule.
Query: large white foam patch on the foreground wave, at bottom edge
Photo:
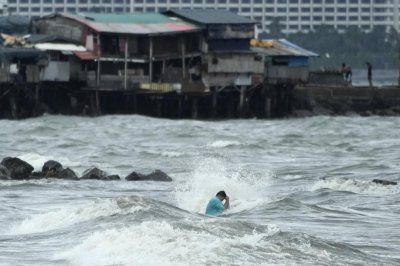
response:
[[[265,253],[263,238],[274,233],[276,230],[224,236],[175,227],[165,221],[149,221],[96,232],[81,244],[56,255],[56,259],[66,259],[80,266],[178,266],[227,265],[240,258],[243,265],[256,265]]]

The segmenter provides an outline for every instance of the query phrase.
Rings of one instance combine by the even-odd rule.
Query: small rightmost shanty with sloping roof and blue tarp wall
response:
[[[269,84],[306,83],[309,78],[310,58],[318,56],[285,39],[253,39],[251,50],[264,58],[264,77]]]

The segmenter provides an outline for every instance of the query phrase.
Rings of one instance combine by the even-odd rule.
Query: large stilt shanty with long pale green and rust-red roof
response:
[[[200,27],[156,13],[53,14],[36,20],[34,28],[85,48],[73,53],[94,89],[157,90],[158,83],[172,90],[187,76],[191,58],[200,54]]]

